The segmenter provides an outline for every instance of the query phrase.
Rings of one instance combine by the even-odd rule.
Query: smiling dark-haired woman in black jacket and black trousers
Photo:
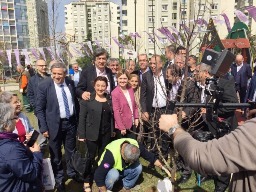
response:
[[[92,92],[90,99],[82,99],[80,102],[78,140],[86,142],[91,161],[88,172],[84,174],[84,191],[86,192],[90,192],[90,174],[97,148],[98,159],[100,159],[104,148],[110,143],[111,136],[116,135],[112,99],[109,94],[106,94],[107,86],[107,78],[98,76],[94,80],[95,92]]]

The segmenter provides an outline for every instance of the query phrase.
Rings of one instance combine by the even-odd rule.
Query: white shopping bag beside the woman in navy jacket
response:
[[[55,186],[55,178],[50,158],[43,160],[43,184],[44,190],[53,190]]]

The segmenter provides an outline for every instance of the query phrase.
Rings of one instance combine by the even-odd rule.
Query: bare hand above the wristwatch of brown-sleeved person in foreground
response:
[[[161,115],[161,118],[159,119],[160,130],[167,133],[168,130],[175,125],[178,125],[177,114]]]

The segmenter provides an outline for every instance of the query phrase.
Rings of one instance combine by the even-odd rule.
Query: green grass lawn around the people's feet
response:
[[[22,95],[18,91],[15,91],[15,93],[18,94],[19,99],[22,99]],[[36,128],[36,118],[33,112],[27,113],[26,115],[29,117],[31,124]],[[64,154],[64,150],[62,152]],[[48,158],[48,157],[50,157],[50,154],[47,148],[44,154],[44,158]],[[65,158],[65,155],[64,155],[64,158]],[[63,158],[63,162],[65,165],[64,158]],[[142,164],[143,170],[142,170],[142,174],[140,174],[140,177],[137,181],[137,183],[140,184],[141,186],[141,189],[139,190],[139,192],[157,192],[156,185],[158,180],[163,180],[167,175],[163,173],[160,170],[160,168],[148,170],[147,166],[149,162],[147,162],[142,158],[140,158],[140,163]],[[180,176],[181,176],[181,172],[178,172],[177,178],[180,178]],[[175,184],[175,191],[176,192],[213,192],[214,190],[213,180],[206,181],[202,183],[201,186],[198,186],[198,184],[195,183],[195,180],[196,180],[196,176],[195,176],[195,173],[193,172],[191,178],[187,183],[180,184],[179,186]],[[66,184],[66,192],[83,192],[84,191],[82,188],[83,187],[82,183],[77,183],[74,180],[70,180],[67,178],[67,176],[64,177],[64,181]],[[122,189],[122,184],[117,183],[114,186],[113,192],[118,192],[121,189]],[[98,192],[98,188],[95,183],[92,184],[92,191]],[[50,190],[49,192],[57,192],[57,190]]]

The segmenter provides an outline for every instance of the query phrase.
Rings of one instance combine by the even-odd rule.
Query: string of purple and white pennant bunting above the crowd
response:
[[[248,13],[252,16],[252,18],[255,20],[256,22],[256,7],[255,6],[250,6],[250,7],[247,7],[245,8]],[[248,19],[248,16],[246,16],[244,13],[242,13],[240,10],[234,10],[234,13],[236,14],[236,16],[238,17],[238,19],[246,24],[248,24],[249,22],[249,19]],[[228,17],[226,16],[226,14],[221,14],[221,16],[224,18],[224,20],[220,20],[218,18],[213,18],[214,20],[214,24],[223,24],[225,23],[226,26],[227,26],[227,30],[228,32],[230,32],[231,30],[231,27],[230,27],[230,22],[228,20]],[[188,22],[196,22],[196,24],[198,26],[208,26],[208,23],[206,22],[206,20],[204,19],[198,19],[198,20],[189,20],[189,21],[186,21],[186,23]],[[178,23],[177,23],[178,24]],[[185,25],[185,24],[179,24],[184,30],[186,30],[186,32],[190,32],[189,28]],[[172,32],[177,36],[178,38],[178,41],[180,42],[180,44],[182,44],[182,40],[181,40],[181,37],[180,37],[180,34],[178,33],[178,30],[176,29],[175,26],[169,26],[169,28],[172,30]],[[169,40],[171,43],[175,42],[177,43],[177,40],[176,38],[172,35],[172,33],[170,32],[170,30],[167,28],[167,27],[162,27],[162,28],[158,28],[157,29],[161,34],[163,34],[167,40]],[[154,39],[152,38],[152,36],[150,35],[150,33],[144,31],[147,35],[148,35],[148,38],[150,38],[150,40],[154,43]],[[167,43],[166,41],[164,41],[163,38],[161,38],[158,34],[156,34],[156,32],[152,31],[151,32],[156,36],[156,38],[158,38],[159,42],[161,44],[164,44],[164,43]],[[135,33],[129,33],[128,35],[132,36],[132,37],[138,37],[138,38],[141,38],[140,34],[138,34],[138,32],[135,32]],[[122,38],[122,40],[124,40],[124,42],[126,42],[126,44],[128,45],[128,47],[130,48],[130,50],[132,49],[132,46],[131,44],[125,39],[125,35],[120,35],[119,36],[120,38]],[[116,50],[114,50],[114,48],[112,47],[112,45],[109,43],[108,41],[109,38],[105,38],[104,41],[105,41],[105,44],[110,48],[112,49],[114,52],[116,52]],[[124,46],[122,44],[120,44],[118,42],[118,39],[117,37],[112,37],[112,39],[114,40],[114,42],[118,45],[118,47],[120,47],[121,49],[124,49]],[[94,40],[92,41],[94,42],[98,48],[100,48],[100,42],[99,40]],[[90,56],[90,54],[93,53],[93,50],[92,50],[92,42],[91,41],[87,41],[87,42],[79,42],[78,44],[80,44],[82,46],[82,48],[84,49],[84,51],[86,52],[86,54],[88,56]],[[84,46],[84,44],[87,44],[88,48],[90,49],[90,52],[86,49],[86,47]],[[81,57],[84,57],[85,55],[82,54],[79,50],[76,49],[76,47],[74,46],[74,44],[70,44],[70,47],[74,50],[74,52],[76,54],[78,54],[79,56]],[[50,53],[50,55],[52,56],[52,59],[56,60],[56,59],[60,59],[62,62],[62,58],[60,57],[60,53],[59,51],[57,52],[57,56],[58,58],[56,58],[51,50],[51,47],[39,47],[39,48],[30,48],[30,52],[32,52],[32,54],[34,55],[34,57],[36,58],[36,60],[39,59],[38,57],[38,54],[37,54],[37,50],[40,52],[40,54],[42,55],[42,57],[44,58],[44,60],[46,60],[46,57],[45,57],[45,54],[44,54],[44,49],[43,48],[46,48],[46,50],[48,50],[48,52]],[[69,54],[69,56],[72,58],[73,55],[72,53],[70,52],[70,50],[67,48],[66,45],[62,45],[62,48],[64,50],[66,50],[66,52]],[[29,56],[28,56],[28,50],[29,49],[14,49],[13,52],[15,54],[15,58],[16,58],[16,61],[17,61],[17,64],[20,65],[20,50],[22,51],[22,53],[24,54],[25,58],[26,58],[26,62],[27,63],[30,63],[30,59],[29,59]],[[6,58],[6,55],[4,53],[4,51],[6,51],[6,55],[7,55],[7,58]],[[9,66],[12,67],[12,62],[11,62],[11,53],[12,53],[12,50],[0,50],[0,55],[4,56],[4,59],[6,61],[8,61],[9,63]]]

